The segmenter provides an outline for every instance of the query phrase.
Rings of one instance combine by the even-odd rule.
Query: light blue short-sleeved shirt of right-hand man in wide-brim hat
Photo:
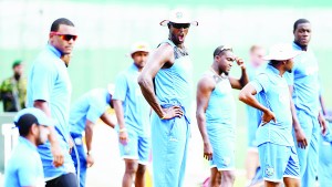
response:
[[[286,79],[280,76],[279,70],[269,64],[250,84],[257,91],[258,101],[272,111],[277,118],[277,123],[270,121],[264,126],[258,127],[256,133],[258,146],[263,143],[293,146],[290,93]],[[262,112],[259,113],[262,116]]]

